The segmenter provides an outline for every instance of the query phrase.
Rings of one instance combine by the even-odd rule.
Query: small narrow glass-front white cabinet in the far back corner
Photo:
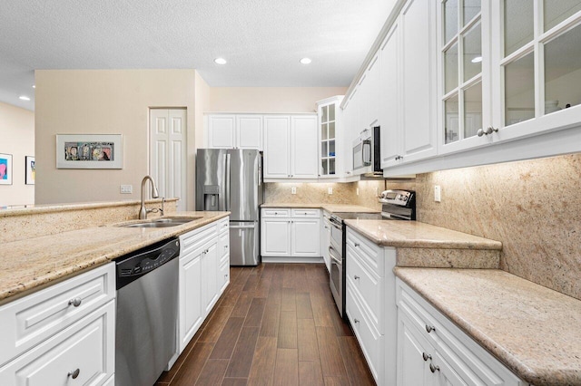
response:
[[[339,133],[340,102],[342,96],[319,101],[319,176],[320,178],[340,177],[339,166]]]

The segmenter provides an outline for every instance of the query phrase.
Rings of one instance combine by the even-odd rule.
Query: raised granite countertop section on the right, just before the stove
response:
[[[348,227],[379,246],[501,250],[502,243],[418,221],[346,220]]]

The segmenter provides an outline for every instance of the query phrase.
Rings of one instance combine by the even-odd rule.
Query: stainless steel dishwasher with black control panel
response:
[[[177,351],[177,238],[116,262],[115,384],[152,386]]]

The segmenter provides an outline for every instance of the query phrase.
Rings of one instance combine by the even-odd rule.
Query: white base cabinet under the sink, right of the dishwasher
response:
[[[180,236],[179,352],[230,283],[229,217]]]

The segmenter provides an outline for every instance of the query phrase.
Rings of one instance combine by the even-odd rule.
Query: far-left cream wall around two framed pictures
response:
[[[0,185],[0,207],[34,204],[25,156],[34,156],[34,112],[0,102],[0,153],[12,154],[12,185]]]

